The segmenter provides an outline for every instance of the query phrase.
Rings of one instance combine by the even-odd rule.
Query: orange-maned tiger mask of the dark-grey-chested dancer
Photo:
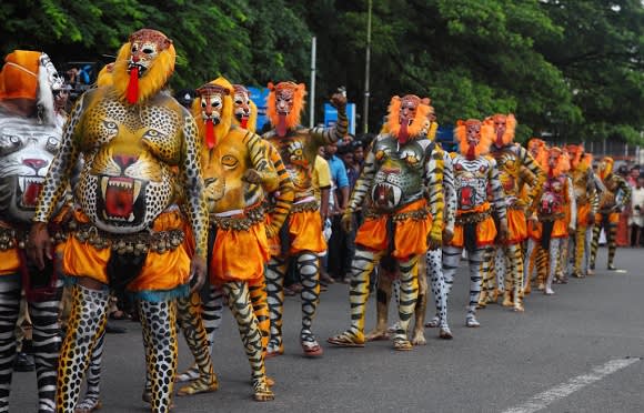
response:
[[[389,132],[403,144],[410,137],[426,134],[427,118],[432,112],[429,98],[421,99],[415,94],[393,97],[389,103],[386,119]],[[409,118],[410,115],[413,118]]]

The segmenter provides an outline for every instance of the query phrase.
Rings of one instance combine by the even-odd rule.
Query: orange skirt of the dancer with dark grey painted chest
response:
[[[413,212],[426,208],[425,200],[419,200],[395,211],[393,214]],[[379,218],[365,218],[355,234],[355,244],[373,251],[386,251],[389,236],[386,221],[392,214]],[[392,256],[405,259],[411,255],[424,254],[427,251],[427,234],[432,229],[432,215],[423,220],[407,218],[395,223]]]

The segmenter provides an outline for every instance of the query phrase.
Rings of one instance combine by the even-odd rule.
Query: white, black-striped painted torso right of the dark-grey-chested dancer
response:
[[[452,165],[459,210],[470,211],[487,202],[489,177],[493,168],[491,161],[485,157],[467,160],[456,154]]]

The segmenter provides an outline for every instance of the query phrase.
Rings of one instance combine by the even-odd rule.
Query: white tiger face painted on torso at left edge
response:
[[[39,124],[0,111],[0,220],[29,223],[62,135],[61,122]]]

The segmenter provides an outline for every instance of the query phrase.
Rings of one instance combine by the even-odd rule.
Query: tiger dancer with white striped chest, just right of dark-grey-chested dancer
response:
[[[490,245],[505,242],[507,220],[503,190],[499,180],[496,161],[485,155],[492,144],[494,130],[490,123],[477,119],[459,120],[454,134],[461,153],[452,153],[454,187],[456,189],[456,221],[453,239],[443,246],[443,274],[445,282],[454,279],[463,248],[470,261],[470,302],[465,325],[477,328],[476,305],[481,293],[481,268],[487,260]],[[492,190],[499,229],[494,224],[491,205],[487,201],[487,187]]]

